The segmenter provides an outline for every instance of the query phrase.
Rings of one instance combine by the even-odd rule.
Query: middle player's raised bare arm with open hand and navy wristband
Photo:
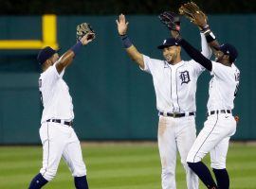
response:
[[[129,57],[137,62],[137,64],[144,69],[143,55],[137,51],[136,46],[131,42],[127,35],[128,22],[125,21],[125,16],[123,14],[119,15],[119,20],[116,20],[119,36],[123,46],[129,55]]]

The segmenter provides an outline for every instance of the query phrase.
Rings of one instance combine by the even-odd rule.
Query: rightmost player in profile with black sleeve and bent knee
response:
[[[207,188],[229,189],[226,158],[229,139],[236,131],[232,109],[240,77],[240,71],[233,63],[238,56],[237,50],[233,45],[225,43],[216,49],[216,59],[211,61],[182,39],[178,32],[174,31],[174,33],[176,33],[178,43],[192,59],[209,70],[212,76],[207,105],[208,119],[192,145],[187,163]],[[217,184],[212,179],[208,167],[201,162],[208,152],[210,152],[210,166]]]

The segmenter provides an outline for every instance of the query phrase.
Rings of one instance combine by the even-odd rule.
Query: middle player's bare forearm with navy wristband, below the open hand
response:
[[[137,51],[136,46],[130,41],[129,37],[127,35],[125,36],[120,36],[121,42],[129,55],[129,57],[137,62],[137,64],[141,67],[144,68],[144,60],[143,56],[141,53]]]

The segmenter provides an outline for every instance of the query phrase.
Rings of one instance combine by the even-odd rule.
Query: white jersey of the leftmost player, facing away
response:
[[[46,122],[47,119],[68,121],[74,119],[72,97],[63,79],[64,71],[59,74],[55,66],[56,63],[42,73],[39,78],[39,91],[42,94],[44,106],[41,123]]]

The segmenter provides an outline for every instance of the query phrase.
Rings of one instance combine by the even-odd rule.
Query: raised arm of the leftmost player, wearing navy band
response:
[[[86,45],[94,40],[94,33],[87,33],[84,35],[80,42],[76,43],[69,50],[67,50],[64,55],[60,58],[60,60],[56,63],[56,69],[59,74],[61,74],[66,66],[71,64],[72,60],[76,56],[76,54],[81,49],[82,45]]]

